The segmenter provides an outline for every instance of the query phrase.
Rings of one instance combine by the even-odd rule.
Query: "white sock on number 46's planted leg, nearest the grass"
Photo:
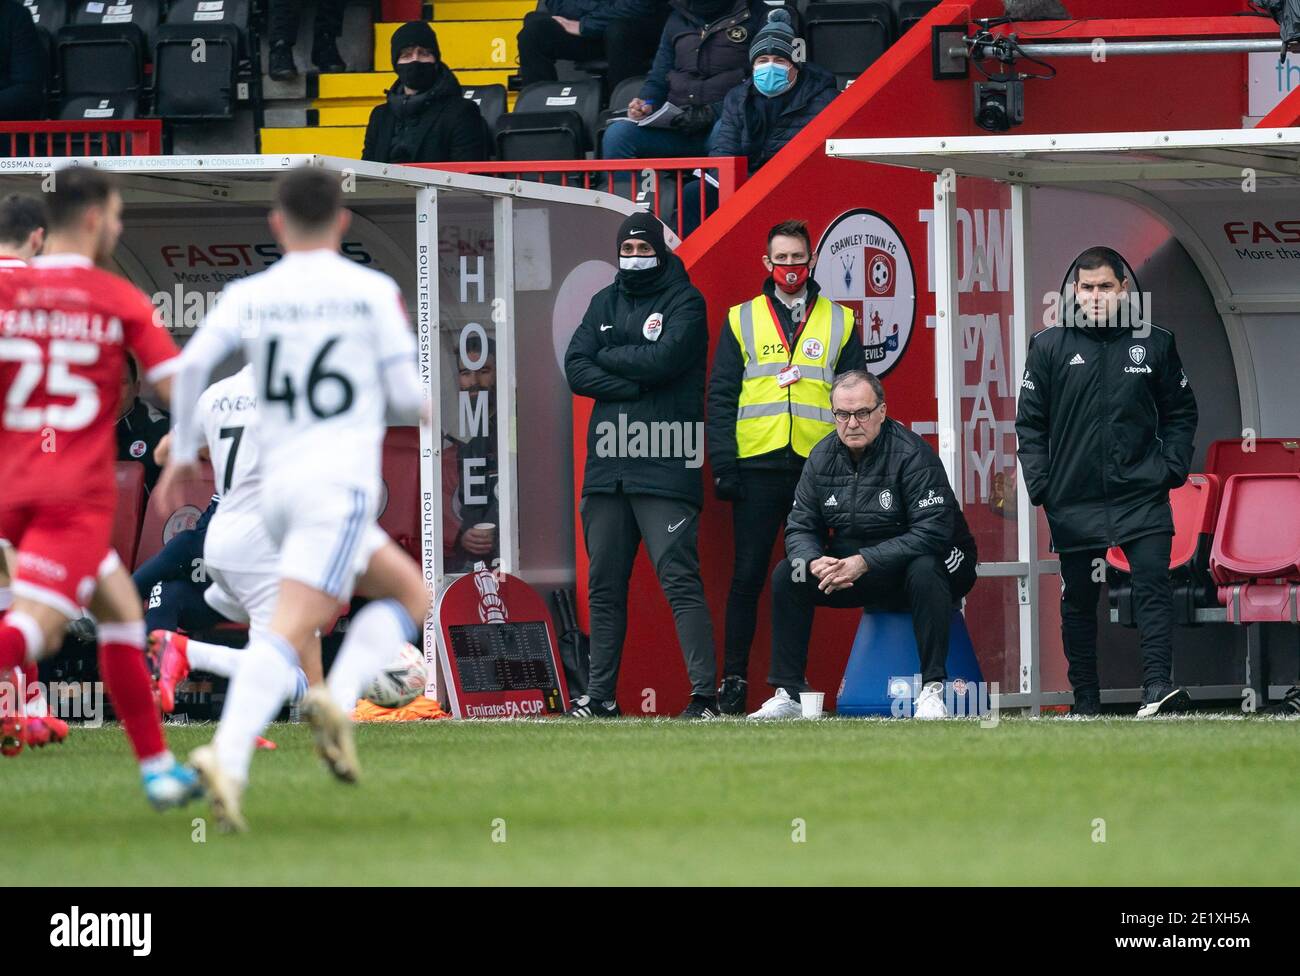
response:
[[[242,660],[230,680],[226,707],[212,745],[221,768],[239,782],[247,782],[257,736],[276,719],[296,681],[290,661],[296,661],[298,654],[274,633],[252,636],[248,647],[239,654]]]

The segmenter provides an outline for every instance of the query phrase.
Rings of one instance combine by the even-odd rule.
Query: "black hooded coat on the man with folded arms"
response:
[[[705,299],[676,255],[666,252],[656,270],[650,281],[619,272],[592,299],[564,356],[569,389],[595,400],[582,494],[621,487],[701,506]]]

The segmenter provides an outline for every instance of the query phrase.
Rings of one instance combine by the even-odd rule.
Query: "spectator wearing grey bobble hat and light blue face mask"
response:
[[[754,173],[835,100],[835,75],[814,64],[796,64],[794,40],[790,14],[780,8],[768,13],[749,48],[751,75],[723,99],[722,118],[708,136],[710,156],[744,156]],[[682,187],[682,237],[699,226],[702,186],[694,181]],[[718,190],[706,190],[712,213]]]

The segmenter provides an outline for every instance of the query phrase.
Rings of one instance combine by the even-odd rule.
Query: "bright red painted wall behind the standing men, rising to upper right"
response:
[[[1083,3],[1069,0],[1078,13],[1122,16],[1132,4],[1121,0]],[[1244,9],[1240,3],[1209,0],[1169,0],[1143,5],[1144,14],[1179,16],[1227,14]],[[933,22],[962,23],[968,16],[988,17],[1001,4],[979,0],[974,4],[946,4]],[[1075,23],[1069,32],[1080,38],[1165,34],[1174,29],[1187,32],[1236,34],[1257,30],[1273,35],[1275,25],[1244,18],[1217,18],[1212,22],[1186,18],[1176,23],[1112,22],[1105,32],[1089,32],[1101,25]],[[1028,32],[1062,31],[1065,25],[1026,26]],[[1063,32],[1063,31],[1062,31]],[[1027,83],[1026,125],[1018,131],[1117,131],[1147,129],[1240,127],[1245,113],[1245,65],[1243,56],[1164,56],[1113,58],[1093,64],[1087,58],[1056,60],[1053,81]],[[916,317],[906,355],[884,377],[889,412],[904,424],[935,420],[935,352],[931,333],[924,326],[932,315],[933,296],[926,289],[926,227],[916,212],[932,205],[933,178],[888,166],[832,160],[824,155],[829,138],[980,135],[972,121],[971,81],[933,82],[930,66],[928,31],[914,30],[841,95],[820,117],[757,173],[740,191],[685,242],[679,253],[692,278],[708,302],[711,333],[716,340],[727,308],[744,302],[759,289],[763,278],[760,256],[767,229],[788,217],[809,221],[814,243],[840,213],[868,207],[885,216],[902,233],[916,279]],[[612,242],[611,242],[612,248]],[[590,400],[575,400],[575,483],[581,483],[585,460],[586,420]],[[706,478],[711,476],[706,468]],[[577,522],[581,524],[580,521]],[[719,659],[723,646],[723,611],[731,578],[731,506],[712,499],[711,493],[701,521],[699,539],[705,587],[714,611]],[[577,545],[580,603],[586,613],[586,560],[581,538]],[[971,599],[997,599],[982,581]],[[642,554],[632,580],[628,638],[623,655],[619,699],[624,711],[640,712],[644,693],[655,693],[655,711],[675,712],[686,700],[688,682],[675,638],[672,615]],[[759,608],[759,630],[750,661],[750,703],[767,697],[771,608],[767,597]],[[809,661],[809,680],[833,698],[857,628],[858,615],[823,610],[818,615]],[[1006,649],[976,646],[982,663]],[[1014,649],[1011,650],[1014,654]],[[1045,654],[1050,651],[1044,649]],[[988,665],[985,665],[988,667]],[[1001,680],[1001,674],[987,676]],[[1004,684],[1005,687],[1005,684]],[[829,703],[831,698],[828,698]]]

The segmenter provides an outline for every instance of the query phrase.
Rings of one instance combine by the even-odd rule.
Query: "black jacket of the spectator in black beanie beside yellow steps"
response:
[[[488,159],[484,117],[464,97],[460,82],[442,61],[433,87],[407,95],[402,82],[376,105],[365,126],[363,160],[373,162],[477,162]]]

